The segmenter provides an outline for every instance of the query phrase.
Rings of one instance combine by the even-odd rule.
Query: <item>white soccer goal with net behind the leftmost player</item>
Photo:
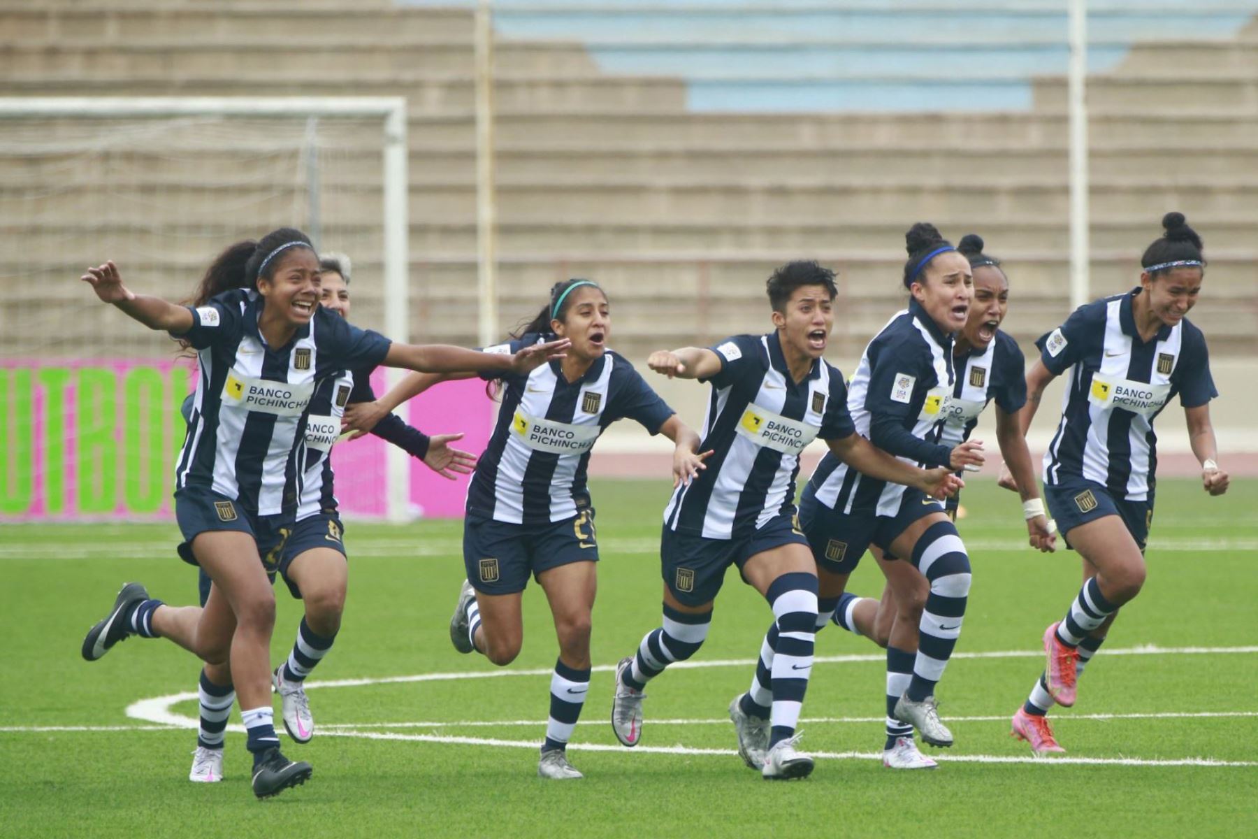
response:
[[[374,172],[364,165],[375,152],[355,146],[371,125]],[[322,140],[328,133],[336,137]],[[166,425],[138,444],[127,426],[150,409],[171,414],[186,382],[162,384],[179,377],[169,341],[123,333],[112,313],[72,293],[65,277],[77,283],[91,255],[122,250],[138,270],[123,265],[125,275],[146,282],[177,274],[177,286],[155,291],[184,299],[230,242],[313,224],[323,229],[311,230],[318,247],[353,242],[355,265],[379,275],[377,317],[365,325],[408,341],[408,152],[404,97],[0,97],[0,230],[15,244],[0,273],[19,292],[0,304],[0,521],[169,514],[169,502],[153,506],[155,460],[169,462],[181,430]],[[276,172],[293,182],[273,187]],[[323,192],[332,214],[320,209]],[[120,357],[108,357],[109,346],[123,347]],[[136,372],[121,356],[153,364]],[[405,521],[410,458],[382,449],[370,477],[379,486],[382,465],[375,512]],[[132,511],[137,498],[147,501]]]

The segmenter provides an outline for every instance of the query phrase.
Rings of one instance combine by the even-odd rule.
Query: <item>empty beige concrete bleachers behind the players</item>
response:
[[[606,16],[586,16],[608,25]],[[713,112],[696,107],[703,79],[655,72],[642,60],[609,72],[609,49],[595,43],[605,34],[584,19],[570,18],[567,29],[556,20],[551,14],[548,28],[526,26],[528,19],[508,8],[499,23],[503,330],[533,313],[548,286],[569,274],[611,291],[614,343],[633,357],[759,330],[767,322],[764,278],[803,255],[842,270],[835,350],[852,356],[902,302],[902,234],[915,220],[935,221],[954,240],[971,230],[986,238],[1013,279],[1008,327],[1020,340],[1067,313],[1060,72],[1015,79],[1025,88],[1023,109],[979,97],[967,111]],[[1160,39],[1123,45],[1089,78],[1092,287],[1102,294],[1133,284],[1138,253],[1159,233],[1161,214],[1183,210],[1211,259],[1194,319],[1216,353],[1249,353],[1258,348],[1258,24],[1228,20],[1209,31],[1181,26],[1174,39],[1137,29],[1132,38]],[[1117,26],[1106,26],[1112,42]],[[406,96],[411,336],[474,341],[468,9],[382,0],[0,1],[0,31],[6,96]],[[713,67],[699,70],[718,74]],[[781,82],[770,89],[780,93]],[[933,84],[947,87],[947,77]],[[746,99],[759,101],[754,92]],[[323,180],[336,196],[326,221],[360,249],[356,319],[379,325],[379,132],[364,127],[340,141]],[[53,288],[44,281],[77,277],[96,253],[93,242],[133,242],[148,257],[128,265],[128,278],[180,298],[230,238],[301,223],[292,218],[303,201],[299,182],[237,171],[237,151],[258,153],[247,143],[208,148],[194,166],[177,150],[137,142],[128,158],[135,181],[111,191],[107,218],[91,219],[81,199],[55,189],[24,204],[20,218],[4,215],[10,199],[29,191],[21,167],[30,161],[3,151],[0,141],[0,235],[28,243],[5,273],[42,282],[13,292],[0,356],[49,347],[60,313],[84,308],[77,283]],[[151,231],[164,201],[179,208],[177,224],[189,230],[177,248]],[[204,242],[196,230],[221,224],[224,203],[248,206],[233,219],[240,233]],[[59,226],[49,233],[50,225]],[[152,346],[117,318],[103,322],[113,351]]]

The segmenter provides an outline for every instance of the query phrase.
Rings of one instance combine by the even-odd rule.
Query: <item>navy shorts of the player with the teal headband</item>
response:
[[[598,562],[594,508],[560,522],[515,525],[479,516],[463,522],[463,567],[482,594],[516,594],[528,577],[571,562]]]

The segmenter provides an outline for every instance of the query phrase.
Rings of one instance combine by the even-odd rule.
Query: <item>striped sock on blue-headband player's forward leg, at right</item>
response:
[[[905,692],[913,702],[935,693],[944,668],[961,635],[965,604],[970,595],[970,557],[950,521],[931,525],[913,546],[913,566],[931,584],[926,609],[917,624],[917,660],[913,681]]]

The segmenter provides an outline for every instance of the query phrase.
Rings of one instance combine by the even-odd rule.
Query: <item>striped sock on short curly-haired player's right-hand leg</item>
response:
[[[777,643],[774,644],[772,709],[769,747],[795,736],[795,725],[808,692],[813,670],[813,648],[816,638],[816,577],[811,574],[784,574],[765,599],[777,619]]]

